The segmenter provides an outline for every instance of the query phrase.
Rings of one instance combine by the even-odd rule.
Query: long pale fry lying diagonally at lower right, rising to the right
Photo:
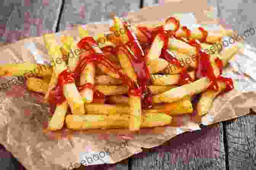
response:
[[[192,83],[182,85],[165,93],[153,96],[153,102],[155,103],[171,103],[174,101],[181,100],[186,96],[192,96],[194,94],[201,93],[205,91],[210,86],[210,80],[207,77],[198,79]]]

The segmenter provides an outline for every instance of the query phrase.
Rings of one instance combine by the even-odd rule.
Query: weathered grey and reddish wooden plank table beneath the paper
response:
[[[150,6],[156,0],[2,0],[0,41],[15,42],[20,36],[42,36],[65,30],[72,24],[87,24]],[[253,0],[208,0],[220,18],[243,33],[255,27]],[[256,45],[253,37],[248,42]],[[0,147],[0,169],[23,169],[19,162]],[[256,115],[203,127],[184,133],[164,145],[145,150],[114,165],[98,165],[86,170],[256,170]]]

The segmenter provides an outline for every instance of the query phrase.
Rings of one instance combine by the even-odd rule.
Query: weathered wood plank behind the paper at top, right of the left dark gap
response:
[[[65,1],[59,27],[60,30],[66,30],[72,24],[109,20],[113,13],[122,16],[128,11],[138,10],[139,7],[138,0]]]

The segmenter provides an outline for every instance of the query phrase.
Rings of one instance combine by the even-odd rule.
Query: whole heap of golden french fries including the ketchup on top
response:
[[[52,91],[54,87],[60,86],[58,80],[64,79],[60,77],[63,71],[72,72],[70,79],[74,74],[75,78],[79,77],[74,82],[61,84],[66,101],[56,105],[48,123],[50,131],[63,128],[64,123],[73,130],[128,128],[138,131],[168,125],[172,116],[191,114],[195,106],[198,116],[203,116],[220,93],[230,90],[230,84],[219,76],[221,67],[237,53],[238,46],[218,49],[211,54],[213,43],[232,31],[223,28],[219,32],[204,34],[201,28],[188,31],[177,23],[169,18],[165,23],[159,22],[157,28],[147,25],[146,35],[139,25],[130,26],[114,17],[114,25],[110,27],[112,32],[102,33],[98,38],[90,37],[80,26],[80,39],[85,38],[83,40],[91,46],[88,50],[83,49],[82,55],[75,53],[81,41],[77,44],[74,37],[62,36],[62,46],[58,46],[54,34],[45,34],[46,49],[56,65],[49,68],[30,63],[1,65],[0,76],[24,75],[27,88],[45,94],[46,100],[55,92]],[[120,30],[123,33],[119,33]],[[166,32],[162,34],[161,31]],[[116,36],[117,32],[119,36]],[[201,43],[200,40],[205,41]],[[198,43],[202,50],[193,43]],[[165,50],[168,53],[164,54]],[[64,56],[70,51],[75,56],[58,64],[57,60],[64,61]],[[87,62],[90,57],[98,58]],[[176,58],[180,65],[173,64],[172,61],[176,61],[168,57]],[[83,61],[87,63],[81,65]],[[81,68],[79,75],[77,68]],[[203,72],[205,70],[210,73]],[[209,88],[215,81],[212,79],[216,80],[218,90]],[[200,94],[196,104],[191,102],[195,94]],[[69,107],[71,114],[67,115]]]

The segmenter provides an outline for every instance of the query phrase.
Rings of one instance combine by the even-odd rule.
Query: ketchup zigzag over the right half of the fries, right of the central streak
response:
[[[156,35],[160,35],[162,40],[164,41],[164,46],[162,48],[160,58],[163,58],[166,61],[168,61],[169,63],[175,64],[178,67],[181,66],[181,64],[176,59],[176,57],[170,51],[167,50],[168,38],[170,38],[170,37],[171,38],[176,38],[176,39],[184,41],[184,42],[186,42],[186,43],[188,43],[192,46],[195,46],[196,49],[197,49],[197,54],[196,54],[196,57],[197,57],[196,78],[200,79],[200,78],[205,77],[205,76],[208,77],[208,79],[210,79],[210,81],[211,81],[211,85],[210,85],[209,88],[213,89],[213,90],[218,90],[219,89],[217,80],[226,83],[225,91],[233,90],[234,89],[234,84],[233,84],[232,79],[227,78],[227,77],[223,77],[221,75],[216,77],[214,75],[213,67],[211,66],[211,63],[210,63],[210,55],[208,55],[206,52],[202,51],[201,45],[197,41],[195,41],[195,40],[190,41],[189,40],[189,38],[191,36],[191,31],[186,26],[183,26],[183,27],[181,27],[181,29],[186,32],[186,38],[187,39],[185,39],[184,37],[177,37],[175,35],[175,32],[179,29],[179,21],[176,20],[173,17],[170,17],[168,20],[166,20],[166,23],[170,22],[170,21],[174,22],[177,25],[176,30],[168,31],[168,30],[164,29],[164,26],[156,27],[152,30],[149,30],[147,27],[138,27],[138,30],[141,31],[141,33],[143,33],[147,37],[147,39],[149,41],[149,44],[152,44]],[[202,38],[199,41],[200,42],[206,42],[206,39],[207,39],[207,36],[208,36],[208,31],[204,30],[202,27],[198,27],[198,29],[202,33]],[[216,62],[216,65],[219,68],[220,74],[222,74],[222,70],[223,70],[222,61],[219,58],[216,58],[215,62]],[[193,82],[193,79],[190,77],[189,73],[186,71],[185,68],[182,68],[182,72],[180,73],[180,75],[181,75],[181,78],[178,82],[178,85],[184,85],[186,83]]]

